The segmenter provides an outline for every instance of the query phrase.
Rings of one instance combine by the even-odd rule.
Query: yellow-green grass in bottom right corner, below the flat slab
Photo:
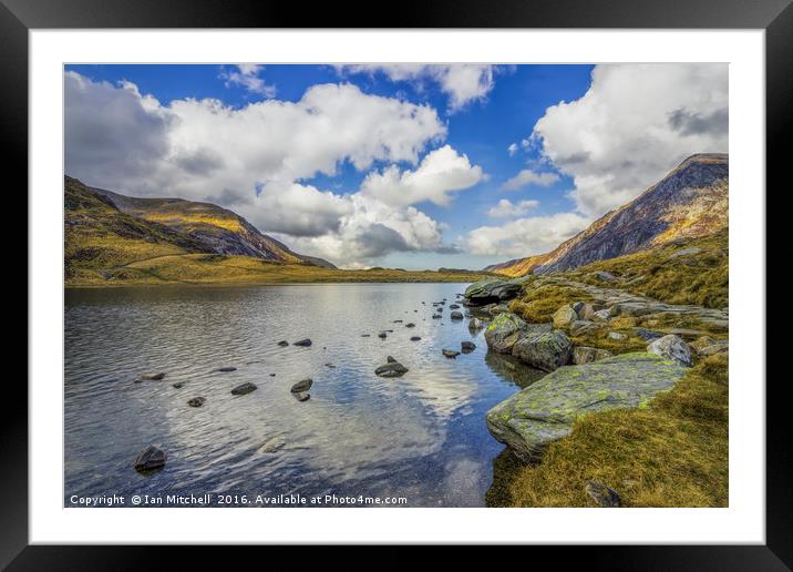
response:
[[[586,481],[615,489],[622,507],[727,507],[728,356],[700,361],[643,409],[578,418],[542,462],[496,460],[490,505],[591,507]]]

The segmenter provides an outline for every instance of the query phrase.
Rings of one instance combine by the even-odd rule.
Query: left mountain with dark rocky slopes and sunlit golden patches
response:
[[[66,276],[177,254],[244,255],[280,264],[334,268],[261,234],[241,216],[209,203],[136,198],[64,177]]]

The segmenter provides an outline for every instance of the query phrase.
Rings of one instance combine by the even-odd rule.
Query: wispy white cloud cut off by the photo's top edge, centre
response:
[[[339,65],[338,69],[348,73],[382,72],[392,81],[433,81],[449,95],[449,110],[455,112],[470,102],[487,96],[495,84],[493,78],[496,67],[473,63],[375,63]]]

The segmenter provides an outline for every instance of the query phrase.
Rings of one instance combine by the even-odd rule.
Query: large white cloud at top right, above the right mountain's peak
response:
[[[548,108],[531,141],[573,177],[577,210],[595,217],[683,159],[728,151],[727,64],[604,64],[587,93]]]

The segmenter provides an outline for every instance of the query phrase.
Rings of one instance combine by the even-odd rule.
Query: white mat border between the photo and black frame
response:
[[[34,30],[30,48],[31,543],[764,542],[763,31]],[[730,62],[729,509],[62,508],[64,62],[587,63],[626,59]]]

